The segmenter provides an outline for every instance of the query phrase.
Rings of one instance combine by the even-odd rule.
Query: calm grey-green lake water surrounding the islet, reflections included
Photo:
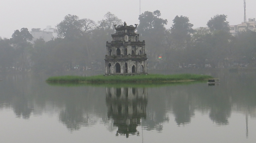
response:
[[[0,142],[256,141],[256,71],[182,72],[221,83],[53,86],[47,76],[1,73]]]

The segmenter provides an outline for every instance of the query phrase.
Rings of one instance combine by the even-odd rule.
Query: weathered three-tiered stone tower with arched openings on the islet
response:
[[[106,42],[104,75],[137,75],[147,74],[147,55],[145,54],[145,40],[139,41],[139,34],[134,33],[137,28],[133,25],[119,25],[116,33],[112,34],[112,42]]]

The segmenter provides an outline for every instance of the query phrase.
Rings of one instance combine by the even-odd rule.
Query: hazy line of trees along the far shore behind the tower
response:
[[[256,32],[248,29],[232,36],[226,18],[215,15],[207,22],[210,31],[203,27],[195,31],[188,17],[176,16],[172,27],[166,28],[168,21],[161,18],[160,11],[145,11],[139,16],[136,32],[139,40],[146,41],[148,68],[254,66]],[[112,41],[114,25],[121,24],[122,20],[110,12],[98,22],[68,14],[56,25],[58,38],[48,42],[40,38],[33,43],[27,28],[16,30],[11,39],[0,38],[0,70],[104,69],[106,41]]]

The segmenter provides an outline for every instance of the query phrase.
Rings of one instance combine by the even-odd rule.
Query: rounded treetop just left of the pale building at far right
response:
[[[218,30],[223,30],[225,32],[229,32],[229,22],[226,21],[227,15],[215,15],[213,18],[211,18],[207,22],[207,26],[210,28],[210,31],[218,31]]]

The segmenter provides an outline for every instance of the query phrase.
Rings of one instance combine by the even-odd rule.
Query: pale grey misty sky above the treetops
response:
[[[1,0],[0,37],[11,38],[12,33],[23,27],[55,27],[67,14],[79,18],[102,20],[108,11],[115,14],[127,25],[139,24],[140,0]],[[246,16],[256,18],[255,0],[246,0]],[[206,27],[216,14],[228,15],[230,25],[240,24],[244,19],[243,0],[141,0],[141,13],[161,11],[161,18],[168,20],[166,28],[172,26],[176,15],[186,16],[193,28]]]

